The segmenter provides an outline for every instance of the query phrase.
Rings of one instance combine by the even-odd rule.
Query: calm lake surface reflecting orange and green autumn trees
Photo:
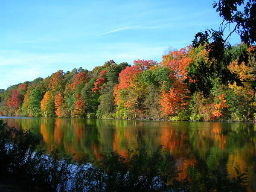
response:
[[[102,159],[110,150],[125,156],[139,143],[171,152],[185,178],[189,165],[217,168],[235,177],[246,173],[256,191],[256,124],[113,119],[0,117],[10,126],[33,128],[48,151],[58,147],[75,158]],[[203,168],[204,169],[204,168]]]

